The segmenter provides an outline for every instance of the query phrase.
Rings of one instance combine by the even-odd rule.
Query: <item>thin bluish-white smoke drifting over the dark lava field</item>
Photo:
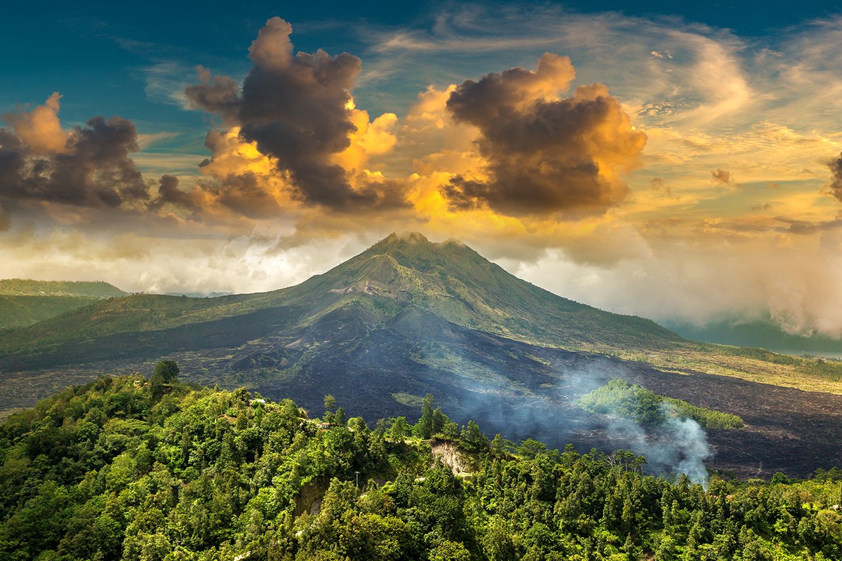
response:
[[[424,341],[424,335],[418,335],[416,340]],[[637,379],[645,374],[630,371],[622,361],[559,349],[543,352],[520,344],[512,347],[510,342],[500,350],[486,344],[490,341],[477,341],[454,329],[443,330],[440,336],[446,347],[422,342],[413,349],[413,361],[428,367],[416,379],[429,385],[403,391],[434,394],[454,421],[473,419],[490,435],[533,438],[551,448],[569,443],[580,452],[631,450],[647,459],[648,473],[685,474],[691,482],[706,486],[705,463],[712,453],[706,431],[696,421],[678,415],[668,404],[660,405],[663,422],[657,426],[624,418],[616,408],[594,414],[578,405],[584,394],[614,378],[645,385]]]

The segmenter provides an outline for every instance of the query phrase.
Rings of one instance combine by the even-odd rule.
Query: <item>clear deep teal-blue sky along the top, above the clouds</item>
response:
[[[41,103],[53,91],[65,97],[62,117],[79,123],[94,114],[129,117],[142,129],[169,124],[202,127],[202,117],[162,103],[147,93],[147,69],[162,61],[180,68],[202,64],[216,71],[248,71],[248,44],[254,30],[273,15],[295,27],[296,47],[312,52],[349,51],[370,60],[369,33],[390,29],[429,29],[440,13],[464,3],[279,3],[248,2],[86,2],[14,3],[4,7],[7,25],[0,34],[3,71],[0,108]],[[489,12],[512,4],[482,3]],[[529,6],[528,3],[518,3]],[[572,13],[616,11],[630,16],[675,16],[687,23],[732,29],[743,37],[770,37],[810,19],[839,12],[833,2],[589,2],[535,3]],[[498,29],[505,36],[506,29]],[[377,58],[377,56],[374,56]],[[466,65],[470,66],[470,65]],[[480,64],[473,66],[481,66]],[[491,70],[491,69],[488,69]],[[418,79],[417,82],[424,82]],[[400,89],[405,82],[387,84]],[[360,88],[360,95],[377,96]],[[403,107],[376,108],[381,111]]]

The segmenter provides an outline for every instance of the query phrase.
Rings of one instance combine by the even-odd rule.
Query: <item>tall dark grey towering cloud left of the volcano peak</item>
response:
[[[185,90],[187,98],[220,114],[239,128],[242,140],[273,158],[303,204],[336,210],[404,205],[377,183],[352,185],[351,172],[334,161],[359,132],[350,92],[360,59],[323,50],[294,54],[291,33],[283,19],[269,19],[249,49],[253,68],[242,88],[232,78],[200,68],[201,82]],[[383,140],[389,124],[376,119],[372,125],[370,141],[378,143],[376,136]]]

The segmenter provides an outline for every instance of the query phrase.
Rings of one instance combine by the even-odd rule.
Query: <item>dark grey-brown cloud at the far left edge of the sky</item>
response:
[[[72,130],[65,151],[39,154],[0,129],[0,197],[83,207],[118,207],[149,198],[129,157],[137,146],[130,120],[95,117]]]

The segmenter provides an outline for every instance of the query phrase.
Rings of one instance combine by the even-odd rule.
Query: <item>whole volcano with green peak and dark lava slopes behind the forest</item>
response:
[[[628,435],[578,399],[624,378],[743,418],[737,430],[708,429],[712,468],[803,476],[842,464],[838,364],[685,341],[651,320],[537,288],[459,241],[392,234],[268,293],[115,294],[100,286],[3,300],[24,316],[20,324],[55,315],[0,331],[0,410],[167,357],[184,378],[244,385],[311,410],[333,394],[367,421],[415,417],[430,393],[456,421],[504,437],[610,450],[628,447]]]

